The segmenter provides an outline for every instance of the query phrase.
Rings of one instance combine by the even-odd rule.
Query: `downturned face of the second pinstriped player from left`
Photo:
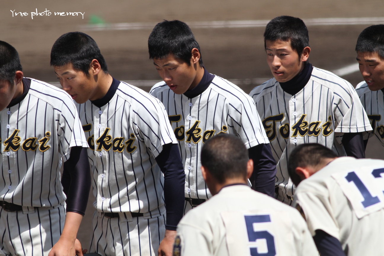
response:
[[[65,66],[53,67],[61,87],[66,91],[77,103],[84,103],[90,100],[98,99],[96,81],[90,75],[87,77],[83,71],[74,69],[72,64]]]

